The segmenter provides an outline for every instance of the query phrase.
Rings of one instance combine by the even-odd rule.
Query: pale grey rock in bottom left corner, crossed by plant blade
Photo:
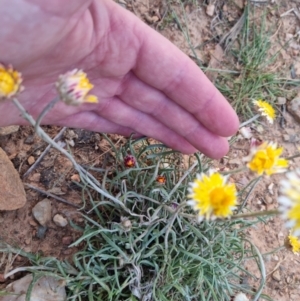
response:
[[[1,301],[25,301],[28,287],[32,282],[32,275],[10,283],[5,291],[10,294],[0,297]],[[30,301],[65,301],[67,298],[65,283],[51,276],[43,276],[34,282]]]

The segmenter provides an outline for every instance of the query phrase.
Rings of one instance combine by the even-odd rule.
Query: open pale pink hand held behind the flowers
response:
[[[238,118],[196,64],[112,0],[0,0],[0,62],[24,78],[18,99],[37,117],[59,74],[83,69],[98,104],[59,102],[43,124],[155,138],[220,158]],[[0,126],[26,124],[11,101]]]

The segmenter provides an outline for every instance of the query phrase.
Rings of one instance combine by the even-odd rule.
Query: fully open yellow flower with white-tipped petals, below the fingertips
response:
[[[226,184],[227,177],[216,172],[198,174],[189,184],[187,203],[198,211],[198,220],[225,218],[232,215],[237,204],[234,184]]]

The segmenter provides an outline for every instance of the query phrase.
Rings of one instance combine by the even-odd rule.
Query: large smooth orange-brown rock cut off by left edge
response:
[[[26,193],[19,174],[0,148],[0,210],[16,210],[26,203]]]

